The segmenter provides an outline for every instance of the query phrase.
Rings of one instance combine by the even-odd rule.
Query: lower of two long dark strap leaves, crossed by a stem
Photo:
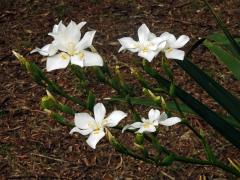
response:
[[[170,87],[171,83],[164,79],[157,71],[153,70],[145,61],[143,69],[150,76],[155,78],[157,82],[165,87]],[[222,136],[229,140],[233,145],[240,148],[240,132],[225,122],[220,116],[209,109],[207,106],[196,100],[190,94],[176,86],[176,96],[186,103],[192,110],[201,116],[208,124],[216,129]]]

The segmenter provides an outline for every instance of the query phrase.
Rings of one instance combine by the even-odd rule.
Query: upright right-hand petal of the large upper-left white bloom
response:
[[[88,31],[84,34],[83,38],[77,44],[76,49],[78,51],[89,48],[92,45],[92,41],[94,38],[96,31]]]

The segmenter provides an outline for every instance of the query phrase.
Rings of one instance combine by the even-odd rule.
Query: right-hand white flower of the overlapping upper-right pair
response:
[[[181,35],[178,39],[176,39],[173,34],[165,32],[159,38],[166,41],[163,51],[168,59],[184,59],[185,52],[179,50],[179,48],[182,48],[185,44],[187,44],[187,42],[190,40],[188,36]],[[162,49],[162,47],[160,48]]]

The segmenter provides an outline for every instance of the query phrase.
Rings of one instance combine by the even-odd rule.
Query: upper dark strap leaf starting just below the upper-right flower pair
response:
[[[240,101],[187,58],[176,61],[207,93],[240,121]]]

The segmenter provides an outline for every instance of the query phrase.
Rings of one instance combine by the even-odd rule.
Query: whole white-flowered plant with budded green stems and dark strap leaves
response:
[[[106,136],[110,144],[117,151],[147,163],[157,166],[168,166],[174,161],[180,161],[212,165],[239,176],[240,172],[235,166],[223,164],[217,159],[207,142],[203,130],[199,131],[195,129],[187,120],[186,112],[194,113],[193,111],[195,111],[196,114],[220,132],[233,145],[238,148],[240,147],[240,132],[237,129],[239,119],[235,117],[237,114],[234,109],[226,108],[235,118],[231,122],[226,122],[224,118],[176,86],[168,63],[169,59],[175,59],[175,62],[183,67],[209,94],[215,90],[217,93],[214,96],[216,101],[221,102],[225,106],[229,101],[232,101],[235,105],[239,104],[238,99],[235,99],[232,94],[193,65],[185,57],[185,52],[179,50],[179,48],[182,48],[190,40],[187,35],[181,35],[179,38],[176,38],[173,34],[164,32],[160,36],[157,36],[150,32],[146,24],[142,24],[138,28],[138,41],[133,40],[131,37],[118,39],[121,44],[119,52],[128,50],[132,53],[138,53],[137,55],[142,59],[142,64],[138,64],[138,68],[142,68],[143,72],[139,71],[137,67],[127,66],[143,88],[144,93],[137,96],[134,88],[125,81],[119,69],[116,68],[115,72],[112,72],[107,62],[103,61],[101,55],[93,47],[92,41],[96,31],[88,31],[81,38],[80,30],[85,24],[86,22],[76,24],[71,21],[67,26],[62,22],[54,25],[52,32],[49,33],[53,37],[53,41],[42,48],[34,49],[32,53],[38,52],[43,56],[47,56],[47,72],[70,67],[71,71],[82,82],[87,80],[84,67],[88,67],[100,82],[112,87],[116,91],[115,96],[105,97],[102,101],[122,103],[122,105],[125,105],[129,109],[129,112],[125,113],[120,110],[114,110],[106,116],[105,106],[103,103],[95,102],[94,93],[89,89],[87,84],[81,87],[81,91],[86,92],[84,94],[85,98],[79,100],[79,98],[69,95],[58,84],[47,78],[45,73],[33,62],[27,61],[23,56],[14,52],[15,56],[31,74],[33,79],[47,89],[47,96],[42,98],[41,106],[50,117],[60,124],[72,128],[70,134],[80,133],[83,136],[89,135],[86,143],[93,149]],[[160,55],[162,57],[162,68],[168,79],[163,78],[157,70],[151,67],[150,63],[154,58],[157,61]],[[151,86],[148,78],[144,77],[144,73],[156,80],[158,86]],[[205,84],[203,81],[205,81]],[[57,95],[77,104],[84,109],[84,112],[76,111],[73,107],[60,103],[55,98]],[[221,98],[224,98],[224,101],[219,100],[220,95],[222,95]],[[182,103],[179,103],[179,100]],[[184,106],[183,103],[187,106]],[[170,104],[173,104],[173,106],[170,106]],[[143,117],[143,113],[138,111],[138,105],[154,107],[154,109],[151,108],[148,112],[147,119]],[[162,113],[160,113],[159,109]],[[63,114],[59,112],[73,116],[74,123],[71,120],[66,120]],[[177,115],[173,116],[173,113]],[[125,121],[132,122],[127,124]],[[233,122],[236,126],[233,126]],[[120,126],[119,124],[124,124],[124,126]],[[161,127],[159,125],[173,126],[175,124],[186,126],[199,138],[206,153],[205,160],[178,155],[160,143],[158,134]],[[121,130],[122,133],[132,133],[135,136],[133,145],[138,150],[135,151],[131,147],[121,143],[120,140],[112,135],[112,128]],[[149,153],[145,146],[145,141],[152,145],[157,152],[156,154]],[[160,154],[163,156],[160,156]]]

